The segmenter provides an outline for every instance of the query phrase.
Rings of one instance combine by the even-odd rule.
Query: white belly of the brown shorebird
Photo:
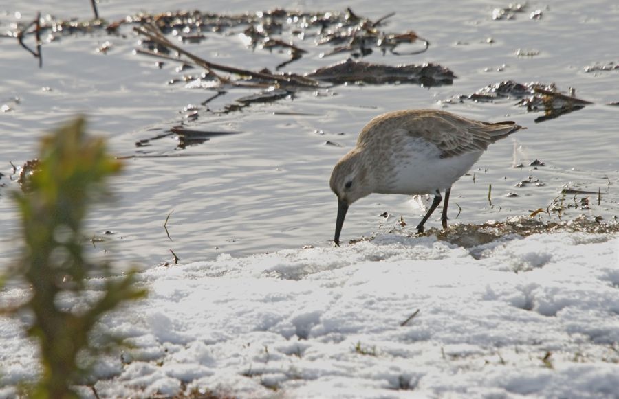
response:
[[[440,158],[435,151],[408,152],[404,159],[393,163],[393,179],[387,182],[385,194],[433,194],[444,190],[468,172],[481,153]]]

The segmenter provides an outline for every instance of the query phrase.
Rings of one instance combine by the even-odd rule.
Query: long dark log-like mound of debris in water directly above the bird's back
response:
[[[308,78],[343,84],[362,82],[367,84],[409,83],[424,86],[453,84],[456,78],[450,69],[437,64],[390,65],[371,64],[351,58],[329,67],[318,68],[305,75]]]

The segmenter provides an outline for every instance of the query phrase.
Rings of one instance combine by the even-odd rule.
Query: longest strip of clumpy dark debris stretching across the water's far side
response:
[[[384,21],[395,13],[391,12],[376,21],[358,16],[350,8],[344,12],[298,12],[282,10],[260,11],[246,14],[217,14],[200,11],[176,11],[150,14],[140,12],[125,16],[124,19],[108,23],[103,19],[78,21],[76,19],[55,19],[50,15],[43,18],[37,16],[30,23],[15,24],[13,31],[6,36],[17,38],[28,52],[39,58],[41,62],[40,45],[36,51],[24,43],[26,36],[36,34],[36,43],[41,43],[40,36],[45,34],[46,42],[56,40],[61,36],[74,34],[91,34],[107,32],[120,34],[124,25],[150,25],[163,35],[171,35],[182,43],[201,43],[206,34],[239,34],[243,42],[252,49],[266,49],[270,52],[286,52],[290,60],[281,62],[276,69],[300,59],[307,53],[294,41],[306,41],[313,38],[314,45],[332,45],[332,54],[349,52],[352,56],[371,54],[373,49],[379,49],[383,54],[387,51],[393,54],[419,54],[425,52],[430,43],[420,38],[415,32],[403,33],[383,32],[380,27]],[[242,29],[241,32],[238,30]],[[424,43],[422,49],[411,52],[398,50],[401,45]],[[169,50],[161,48],[148,39],[142,45],[151,52],[169,54]],[[107,52],[109,46],[100,47],[100,52]]]

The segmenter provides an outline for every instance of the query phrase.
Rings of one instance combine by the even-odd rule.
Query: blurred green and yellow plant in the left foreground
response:
[[[88,275],[110,274],[109,265],[85,259],[82,228],[89,205],[106,194],[107,178],[121,164],[107,154],[102,139],[88,137],[83,129],[84,119],[78,118],[45,137],[39,170],[23,193],[14,195],[25,240],[17,274],[32,286],[32,297],[16,311],[34,315],[28,335],[41,345],[43,374],[31,398],[76,398],[71,385],[84,372],[78,358],[91,349],[96,322],[122,301],[145,293],[132,287],[129,273],[106,279],[101,295],[78,311],[59,304],[62,298],[84,299]]]

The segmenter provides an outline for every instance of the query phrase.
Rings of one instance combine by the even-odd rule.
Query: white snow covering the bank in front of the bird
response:
[[[94,367],[102,398],[619,398],[618,235],[385,233],[138,280],[149,297],[100,323],[127,344]],[[0,319],[0,396],[39,372],[22,328]]]

